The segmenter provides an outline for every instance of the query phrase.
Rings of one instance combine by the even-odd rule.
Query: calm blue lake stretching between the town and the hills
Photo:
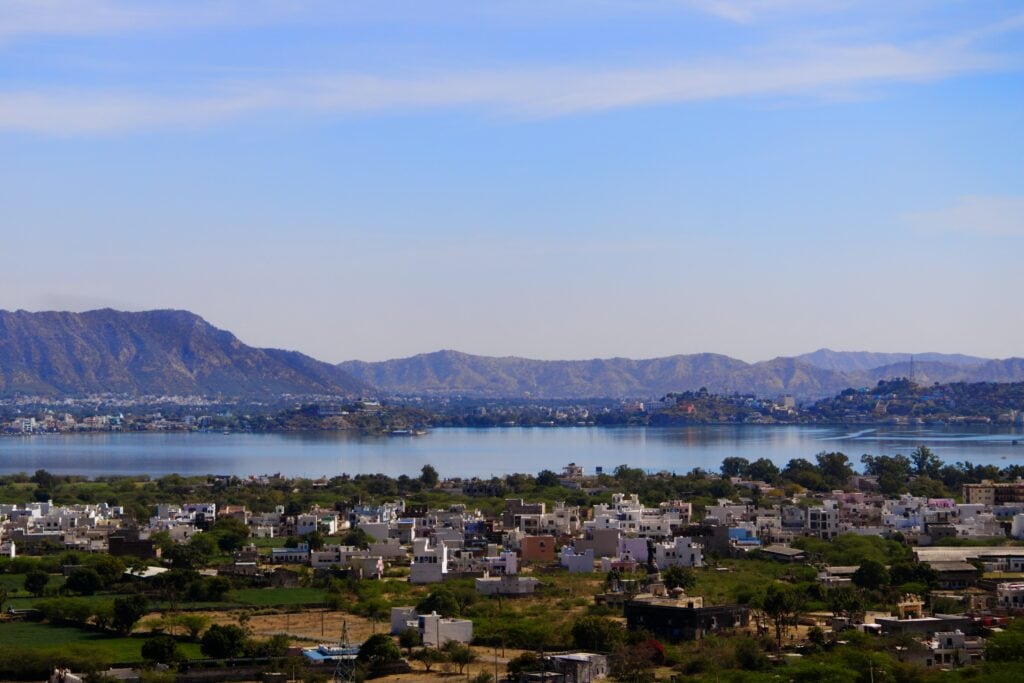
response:
[[[1015,445],[1019,440],[1020,445]],[[1017,429],[796,426],[681,428],[435,429],[416,437],[306,434],[72,434],[0,438],[0,473],[272,474],[318,477],[383,472],[418,474],[430,463],[442,476],[489,477],[559,471],[569,462],[591,473],[617,465],[686,472],[718,470],[723,458],[813,461],[821,451],[909,454],[920,443],[947,462],[1024,462]]]

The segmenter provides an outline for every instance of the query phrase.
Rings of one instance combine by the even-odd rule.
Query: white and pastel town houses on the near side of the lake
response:
[[[564,476],[578,477],[578,469],[569,466]],[[734,479],[733,483],[752,493],[770,490],[763,482]],[[856,488],[865,482],[851,483]],[[621,577],[646,567],[649,579],[644,586],[623,582],[597,598],[622,604],[631,627],[693,638],[745,625],[750,611],[738,605],[705,605],[699,597],[666,590],[659,583],[660,571],[702,567],[710,554],[742,556],[754,551],[781,562],[805,562],[807,554],[792,545],[798,538],[899,533],[915,546],[918,559],[935,571],[937,595],[963,602],[972,616],[926,615],[915,606],[915,598],[907,596],[898,615],[880,615],[864,628],[913,634],[931,653],[929,665],[977,659],[983,626],[1024,613],[1024,548],[935,544],[950,538],[1024,538],[1024,482],[968,484],[963,503],[910,495],[886,498],[869,485],[864,487],[868,489],[781,499],[770,507],[755,505],[754,496],[738,503],[720,500],[707,506],[699,520],[690,503],[647,506],[636,494],[614,494],[610,503],[589,509],[510,499],[501,514],[490,516],[464,504],[428,509],[401,500],[341,511],[314,507],[300,514],[287,514],[284,507],[251,512],[213,503],[162,504],[141,526],[129,525],[117,506],[37,502],[0,505],[0,552],[13,557],[40,549],[75,549],[157,558],[155,533],[166,532],[172,541],[185,543],[217,519],[233,517],[254,539],[298,541],[268,553],[249,546],[233,562],[218,568],[228,575],[265,577],[303,565],[313,571],[378,579],[388,565],[400,564],[409,566],[409,581],[414,584],[470,578],[482,595],[522,596],[540,585],[534,575],[538,566],[584,573],[617,570]],[[368,543],[310,543],[314,532],[336,537],[355,528],[365,532]],[[818,569],[819,580],[836,587],[849,583],[857,567]],[[392,628],[415,628],[425,642],[437,644],[472,638],[468,622],[417,614],[412,608],[392,613]]]

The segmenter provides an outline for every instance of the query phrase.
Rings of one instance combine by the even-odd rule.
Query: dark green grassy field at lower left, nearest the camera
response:
[[[140,661],[145,638],[112,636],[97,631],[66,626],[49,626],[31,622],[0,623],[0,643],[18,650],[55,650],[82,645],[113,661]],[[199,645],[180,643],[180,650],[189,658],[199,658]]]

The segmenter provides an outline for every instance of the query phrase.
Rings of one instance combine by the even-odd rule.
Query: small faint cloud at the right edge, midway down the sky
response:
[[[969,195],[934,211],[907,214],[906,221],[926,232],[1024,234],[1024,197]]]

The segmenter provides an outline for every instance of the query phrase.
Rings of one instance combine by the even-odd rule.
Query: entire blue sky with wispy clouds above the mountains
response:
[[[6,0],[0,308],[1024,355],[1024,5]]]

